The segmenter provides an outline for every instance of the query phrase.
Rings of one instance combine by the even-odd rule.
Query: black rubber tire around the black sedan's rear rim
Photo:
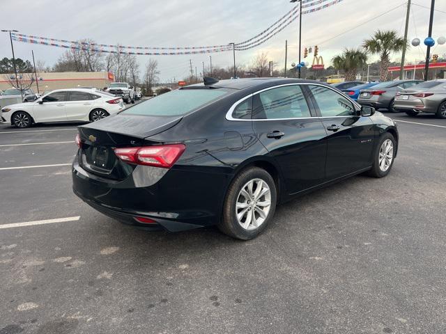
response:
[[[243,196],[241,195],[240,191],[242,191],[242,189],[245,188],[245,186],[250,181],[255,181],[255,180],[261,180],[262,182],[268,184],[270,190],[270,207],[269,207],[269,212],[266,215],[266,218],[263,218],[264,219],[263,222],[260,223],[258,227],[256,228],[252,227],[252,229],[247,229],[243,228],[242,225],[240,225],[240,223],[238,222],[236,205],[240,196]],[[263,190],[263,188],[260,189]],[[254,188],[252,188],[252,192],[255,193]],[[256,202],[257,201],[260,202],[262,198],[263,201],[267,200],[266,197],[261,196],[260,198],[256,199]],[[254,202],[254,200],[252,200],[252,202]],[[238,175],[236,175],[236,177],[234,177],[233,181],[231,182],[231,185],[229,186],[229,189],[226,193],[226,198],[224,200],[222,221],[218,225],[218,228],[225,234],[228,234],[230,237],[236,239],[240,240],[253,239],[257,237],[261,232],[263,232],[263,230],[265,230],[266,227],[268,226],[268,223],[270,222],[272,216],[274,216],[276,203],[277,203],[277,189],[271,175],[262,168],[258,167],[246,168],[242,170]],[[247,202],[244,204],[249,206],[249,200],[247,200]],[[259,213],[256,211],[258,208],[259,207],[248,208],[249,211],[252,210],[251,214],[254,214],[254,219],[256,219],[256,215],[258,216],[258,218],[261,218],[261,216],[259,216]],[[241,209],[241,211],[243,211],[243,209]],[[248,214],[249,213],[247,212],[247,216]],[[247,221],[247,216],[245,217],[245,215],[243,215],[242,219],[243,217],[245,217],[245,221]]]

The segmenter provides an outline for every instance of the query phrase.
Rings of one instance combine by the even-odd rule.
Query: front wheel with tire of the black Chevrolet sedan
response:
[[[394,154],[397,149],[397,142],[389,132],[380,137],[380,141],[374,152],[374,161],[369,170],[369,175],[373,177],[385,177],[393,166]]]

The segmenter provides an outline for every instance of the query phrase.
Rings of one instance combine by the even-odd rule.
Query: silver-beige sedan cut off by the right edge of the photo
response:
[[[395,109],[406,111],[409,116],[435,113],[446,118],[446,79],[426,81],[410,90],[401,90],[395,97]]]

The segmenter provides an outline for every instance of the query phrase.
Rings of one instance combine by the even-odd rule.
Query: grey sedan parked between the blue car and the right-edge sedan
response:
[[[362,89],[357,103],[362,106],[373,106],[377,111],[395,112],[394,99],[400,90],[410,88],[424,81],[395,80],[385,81],[371,88]]]

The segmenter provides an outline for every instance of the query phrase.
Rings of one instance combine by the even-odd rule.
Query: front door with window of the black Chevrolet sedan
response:
[[[327,131],[327,180],[371,166],[374,123],[360,116],[351,100],[327,86],[308,85]]]

